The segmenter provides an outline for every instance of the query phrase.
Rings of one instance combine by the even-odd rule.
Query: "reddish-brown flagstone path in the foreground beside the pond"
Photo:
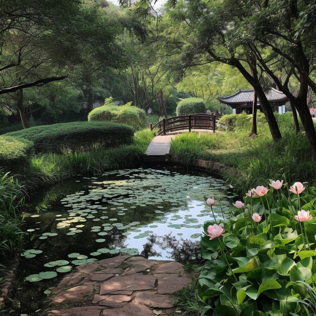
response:
[[[48,316],[179,315],[172,293],[191,282],[173,261],[128,255],[77,269],[52,289]]]

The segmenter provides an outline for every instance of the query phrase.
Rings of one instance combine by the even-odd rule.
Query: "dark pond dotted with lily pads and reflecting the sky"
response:
[[[203,224],[213,218],[205,199],[213,196],[222,219],[235,197],[225,182],[180,167],[78,175],[42,190],[26,221],[20,288],[43,293],[76,266],[120,253],[194,261]]]

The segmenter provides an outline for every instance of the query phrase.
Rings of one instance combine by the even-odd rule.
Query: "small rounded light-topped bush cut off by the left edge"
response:
[[[15,173],[28,166],[33,142],[21,137],[0,136],[0,168]]]

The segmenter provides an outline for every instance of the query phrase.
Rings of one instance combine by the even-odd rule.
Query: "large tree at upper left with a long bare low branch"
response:
[[[17,91],[24,128],[30,124],[22,89],[63,80],[80,67],[82,73],[93,72],[100,62],[113,67],[123,55],[115,43],[117,25],[97,6],[77,0],[5,0],[1,10],[0,94]]]

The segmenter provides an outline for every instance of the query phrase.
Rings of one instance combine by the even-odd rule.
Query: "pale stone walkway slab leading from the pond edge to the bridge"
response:
[[[171,139],[175,136],[164,135],[153,138],[145,152],[146,161],[167,161]]]

